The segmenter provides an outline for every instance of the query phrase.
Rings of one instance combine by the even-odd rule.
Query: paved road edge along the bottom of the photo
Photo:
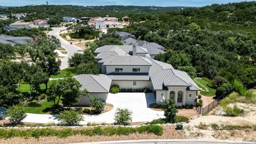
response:
[[[179,140],[179,139],[170,139],[170,140],[124,140],[124,141],[101,141],[101,142],[82,142],[76,144],[227,144],[227,143],[251,143],[251,142],[241,142],[241,141],[226,141],[226,140],[214,140],[214,141],[206,141],[206,140]],[[75,144],[75,143],[73,143]]]

